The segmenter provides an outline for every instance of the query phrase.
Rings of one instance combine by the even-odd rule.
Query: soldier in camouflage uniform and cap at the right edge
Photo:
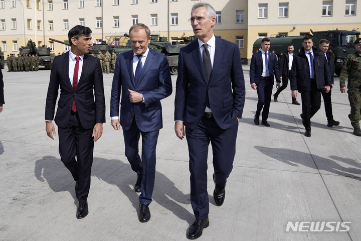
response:
[[[340,73],[340,91],[341,93],[345,92],[345,80],[348,75],[347,93],[351,106],[351,113],[348,118],[353,127],[353,134],[361,137],[359,126],[361,119],[361,38],[356,39],[354,47],[356,52],[349,54],[343,62]]]

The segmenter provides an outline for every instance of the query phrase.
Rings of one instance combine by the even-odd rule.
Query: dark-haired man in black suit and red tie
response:
[[[54,58],[45,106],[46,132],[54,140],[52,120],[60,87],[55,123],[61,161],[75,180],[75,194],[79,200],[77,218],[88,214],[93,147],[105,123],[103,75],[99,59],[88,54],[92,45],[90,34],[88,27],[80,25],[69,31],[71,49]]]

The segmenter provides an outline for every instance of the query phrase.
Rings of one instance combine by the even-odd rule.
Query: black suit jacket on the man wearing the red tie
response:
[[[74,99],[83,128],[91,129],[96,123],[105,123],[104,86],[100,61],[89,54],[84,55],[83,61],[82,73],[75,91],[69,79],[69,52],[56,56],[52,63],[45,119],[54,118],[60,86],[60,97],[55,115],[55,123],[58,127],[66,128]]]

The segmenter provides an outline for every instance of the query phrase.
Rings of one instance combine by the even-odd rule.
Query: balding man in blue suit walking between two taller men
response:
[[[125,156],[137,173],[134,191],[141,192],[138,219],[146,222],[150,219],[148,205],[154,187],[155,148],[159,129],[163,127],[160,100],[171,94],[172,85],[167,58],[148,48],[149,28],[135,24],[129,29],[129,36],[132,50],[119,54],[115,62],[110,116],[115,130],[122,126]]]

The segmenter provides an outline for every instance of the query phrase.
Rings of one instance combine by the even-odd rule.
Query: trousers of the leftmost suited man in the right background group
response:
[[[271,103],[273,84],[270,79],[261,79],[257,84],[258,103],[256,114],[259,116],[262,111],[262,121],[267,121],[269,106]]]

